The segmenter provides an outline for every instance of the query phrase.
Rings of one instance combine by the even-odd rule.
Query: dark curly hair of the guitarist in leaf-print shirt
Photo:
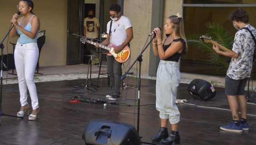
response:
[[[243,8],[239,8],[238,10],[234,10],[230,14],[229,20],[248,23],[249,22],[249,14]]]

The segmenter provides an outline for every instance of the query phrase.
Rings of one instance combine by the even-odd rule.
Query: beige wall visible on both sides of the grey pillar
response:
[[[165,0],[163,12],[163,26],[165,25],[166,18],[171,15],[176,15],[178,12],[182,14],[183,0]],[[174,7],[175,6],[175,7]],[[125,0],[124,2],[124,16],[130,18],[133,26],[134,38],[131,41],[131,63],[137,58],[147,35],[151,30],[151,17],[152,17],[152,0]],[[141,65],[141,73],[148,74],[149,71],[149,47],[143,54],[143,62]],[[127,65],[127,62],[126,62]],[[127,68],[123,68],[123,72]],[[132,68],[136,71],[136,66]]]

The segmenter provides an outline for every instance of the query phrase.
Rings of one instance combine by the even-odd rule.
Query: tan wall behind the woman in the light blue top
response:
[[[0,39],[4,37],[10,26],[12,15],[18,11],[19,0],[0,0]],[[33,12],[39,17],[40,30],[46,30],[46,42],[40,54],[40,66],[56,66],[66,64],[66,30],[67,30],[67,0],[33,0]],[[10,38],[16,43],[16,38]],[[6,46],[6,41],[4,45]],[[8,45],[9,53],[12,46]],[[7,50],[4,50],[7,54]]]

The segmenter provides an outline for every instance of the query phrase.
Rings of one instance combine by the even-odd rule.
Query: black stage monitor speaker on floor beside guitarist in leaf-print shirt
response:
[[[206,80],[194,79],[188,87],[189,94],[194,98],[199,98],[203,101],[210,100],[216,95],[213,86]]]

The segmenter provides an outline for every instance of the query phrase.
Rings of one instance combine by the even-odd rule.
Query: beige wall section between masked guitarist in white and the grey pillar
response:
[[[131,47],[131,63],[140,53],[148,34],[151,29],[152,0],[125,0],[124,16],[128,17],[132,22],[133,36],[130,43]],[[141,73],[148,74],[149,68],[149,47],[143,54],[143,62],[141,65]],[[125,63],[127,65],[128,62]],[[122,68],[123,72],[127,68]],[[136,65],[132,68],[136,71]]]

